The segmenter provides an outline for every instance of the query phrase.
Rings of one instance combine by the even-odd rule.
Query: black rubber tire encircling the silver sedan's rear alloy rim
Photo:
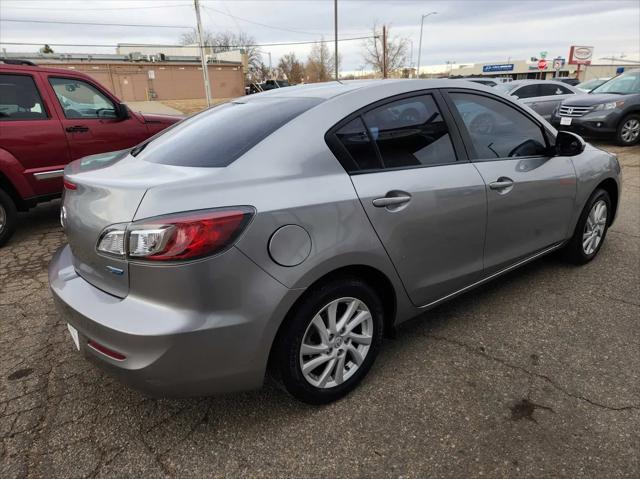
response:
[[[372,318],[371,344],[361,365],[354,370],[349,378],[333,387],[320,388],[314,386],[305,378],[300,364],[300,348],[313,318],[325,306],[340,298],[356,298],[362,301],[369,309]],[[340,316],[340,312],[338,312],[338,316]],[[293,397],[308,404],[326,404],[340,399],[358,385],[373,365],[382,345],[383,326],[384,310],[382,302],[375,290],[359,278],[337,278],[310,290],[290,312],[286,323],[276,338],[272,367],[275,370],[277,379]],[[344,344],[347,344],[346,340]],[[340,354],[337,349],[335,354]],[[329,355],[329,353],[326,354]],[[349,356],[351,353],[342,351],[342,354],[345,355],[345,362],[349,360],[355,366]],[[308,359],[312,359],[312,357]],[[328,367],[328,363],[326,364]],[[336,364],[339,364],[339,362]],[[323,367],[318,366],[318,368]],[[335,374],[333,377],[335,377]]]

